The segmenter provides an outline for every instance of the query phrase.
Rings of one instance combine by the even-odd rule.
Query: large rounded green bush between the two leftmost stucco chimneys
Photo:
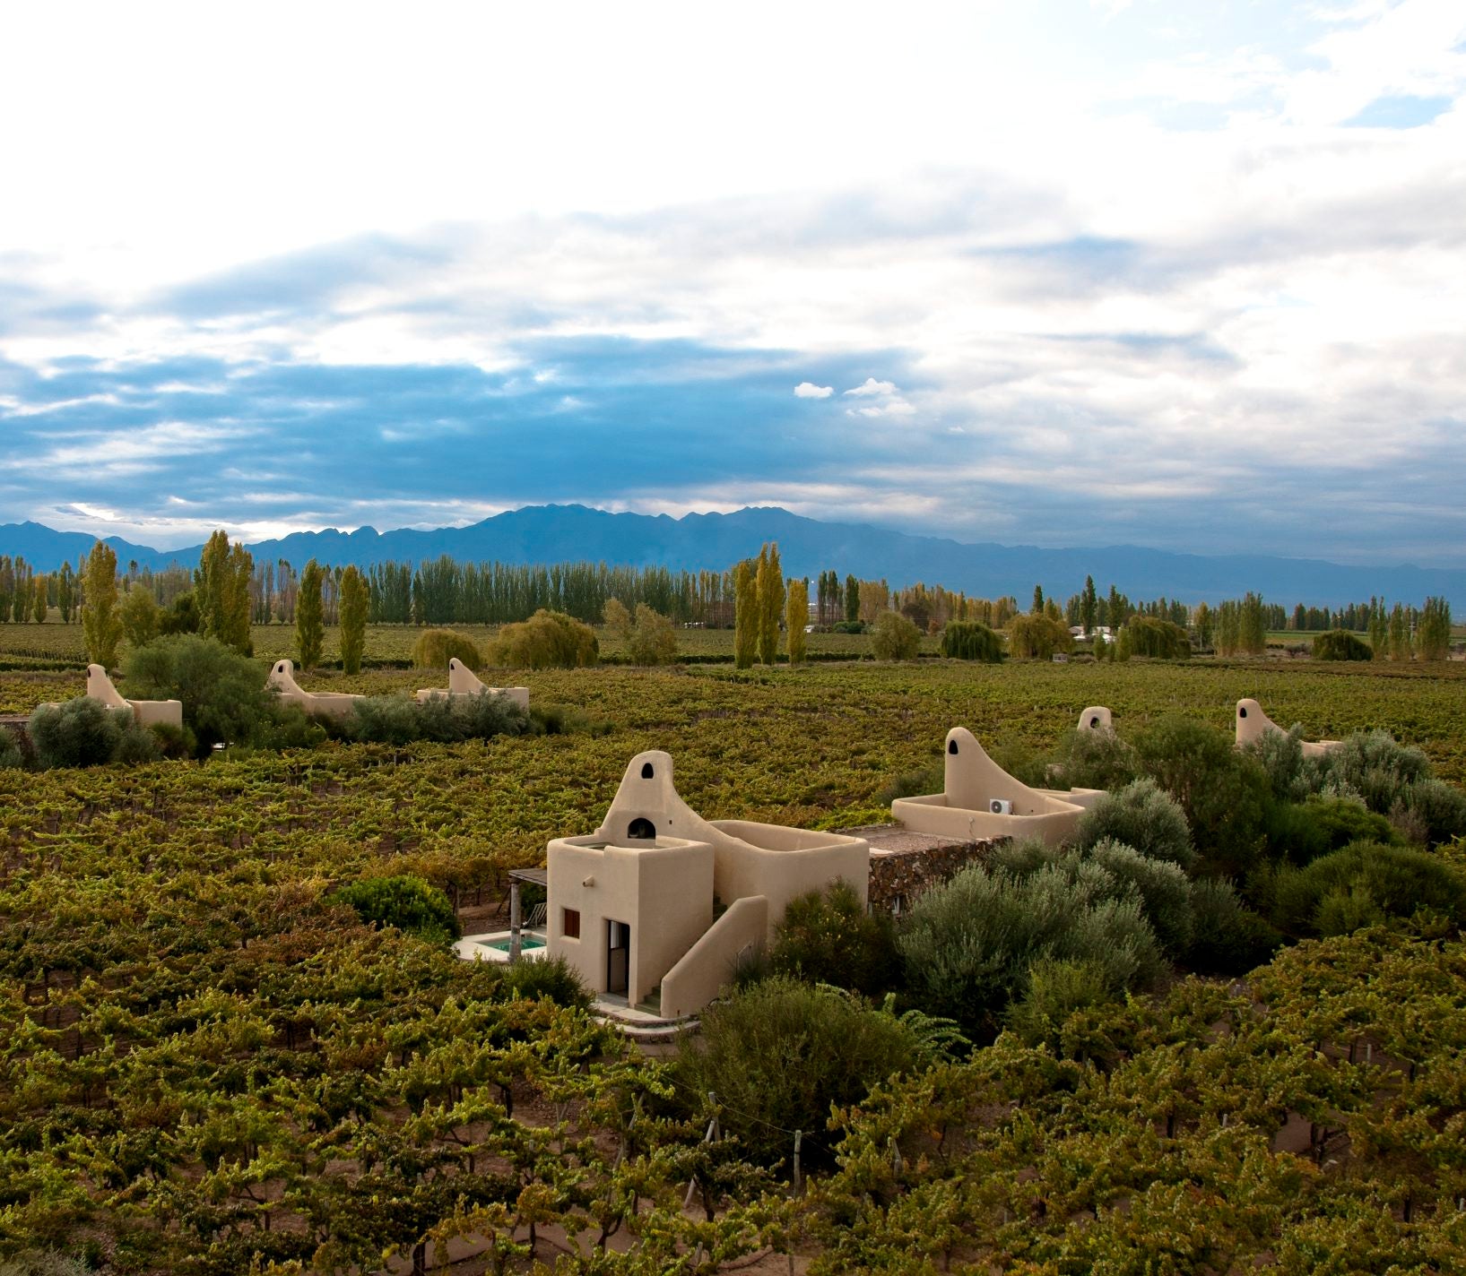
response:
[[[217,639],[157,639],[129,652],[123,672],[133,699],[182,700],[199,756],[214,744],[252,743],[270,719],[273,697],[259,665]]]

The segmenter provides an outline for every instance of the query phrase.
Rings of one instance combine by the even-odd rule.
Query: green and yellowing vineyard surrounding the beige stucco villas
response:
[[[374,627],[375,667],[302,681],[441,681],[387,664],[413,636]],[[863,636],[811,637],[865,655]],[[261,664],[289,640],[257,628]],[[679,642],[711,655],[732,636]],[[81,661],[75,627],[0,628],[0,712],[78,694]],[[0,1272],[21,1250],[182,1273],[425,1270],[469,1251],[456,1270],[528,1270],[531,1251],[605,1273],[759,1251],[815,1273],[1459,1266],[1457,939],[1305,942],[1245,984],[1187,979],[1000,1037],[805,1131],[815,1173],[793,1195],[787,1160],[704,1143],[717,1113],[674,1062],[371,929],[330,892],[410,873],[484,910],[509,867],[595,826],[642,749],[674,756],[708,817],[837,828],[884,817],[877,794],[935,760],[951,725],[998,757],[1044,753],[1086,705],[1121,730],[1180,712],[1230,732],[1253,696],[1314,737],[1385,727],[1462,785],[1466,667],[853,659],[485,678],[605,730],[0,769]]]

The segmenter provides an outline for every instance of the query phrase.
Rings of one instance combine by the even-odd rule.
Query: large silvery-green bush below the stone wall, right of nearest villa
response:
[[[913,1001],[965,1030],[991,1031],[1044,958],[1092,961],[1121,992],[1164,968],[1136,897],[1114,898],[1098,864],[1028,876],[966,869],[919,897],[897,936]]]

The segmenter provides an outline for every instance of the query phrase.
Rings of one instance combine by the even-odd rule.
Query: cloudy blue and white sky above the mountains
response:
[[[1466,6],[0,10],[0,523],[1466,565]]]

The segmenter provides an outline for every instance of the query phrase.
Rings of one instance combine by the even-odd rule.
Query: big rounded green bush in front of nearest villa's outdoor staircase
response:
[[[724,1128],[764,1165],[790,1154],[786,1131],[822,1131],[831,1103],[859,1103],[913,1061],[912,1033],[900,1020],[777,976],[708,1006],[701,1042],[683,1036],[677,1043],[686,1091],[714,1091]],[[805,1144],[812,1160],[818,1149]]]

